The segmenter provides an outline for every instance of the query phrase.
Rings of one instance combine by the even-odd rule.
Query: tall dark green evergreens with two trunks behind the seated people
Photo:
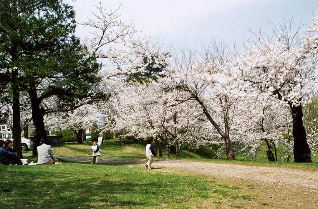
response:
[[[20,139],[20,94],[27,93],[39,140],[47,140],[44,115],[104,98],[100,64],[74,35],[75,13],[63,0],[0,1],[0,69],[10,82],[14,143]],[[2,84],[1,84],[2,85]]]

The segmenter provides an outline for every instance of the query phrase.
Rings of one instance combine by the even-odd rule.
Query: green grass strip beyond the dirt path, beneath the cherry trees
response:
[[[147,142],[145,140],[139,140],[137,144],[134,144],[132,140],[126,139],[125,145],[120,145],[118,139],[105,140],[104,145],[100,148],[101,157],[122,157],[122,158],[144,158],[145,146]],[[91,156],[90,146],[92,142],[84,142],[84,144],[77,144],[76,142],[67,142],[64,146],[53,147],[53,151],[58,156],[77,156],[88,157]],[[165,155],[165,149],[162,150]],[[32,151],[23,153],[24,157],[30,160],[37,160],[32,156]],[[242,165],[255,165],[255,166],[274,166],[274,167],[289,167],[295,169],[306,170],[318,170],[318,154],[312,155],[314,163],[294,163],[294,162],[269,162],[266,157],[266,149],[263,147],[256,160],[245,158],[242,155],[236,155],[236,160],[227,160],[225,158],[215,159],[215,154],[210,149],[200,147],[198,150],[191,151],[187,147],[180,150],[180,156],[170,155],[169,159],[183,159],[189,161],[200,162],[214,162],[214,163],[230,163],[230,164],[242,164]],[[163,156],[163,159],[166,157]]]

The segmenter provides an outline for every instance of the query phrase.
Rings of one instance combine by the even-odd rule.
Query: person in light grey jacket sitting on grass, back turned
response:
[[[55,157],[52,147],[44,143],[44,139],[40,141],[41,145],[37,147],[38,150],[38,165],[51,165],[51,164],[62,164],[59,163]]]

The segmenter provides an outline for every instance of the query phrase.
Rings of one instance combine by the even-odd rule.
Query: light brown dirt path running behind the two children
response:
[[[90,157],[57,157],[69,162],[90,163],[91,161]],[[140,158],[101,157],[100,160],[102,164],[109,165],[143,165],[146,163],[146,159]],[[276,183],[279,185],[290,184],[306,188],[318,188],[318,171],[161,159],[155,159],[155,161],[153,162],[153,166],[155,168],[178,168],[185,172],[222,178],[239,178],[260,182]]]

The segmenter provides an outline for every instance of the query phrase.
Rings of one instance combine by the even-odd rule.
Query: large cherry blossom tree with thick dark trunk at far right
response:
[[[275,40],[265,41],[259,36],[258,42],[250,43],[236,66],[246,82],[289,106],[293,120],[294,160],[311,162],[302,117],[303,105],[310,101],[316,89],[317,45],[310,40],[317,35],[314,27],[300,46],[295,43],[295,33],[288,27],[282,29]]]

